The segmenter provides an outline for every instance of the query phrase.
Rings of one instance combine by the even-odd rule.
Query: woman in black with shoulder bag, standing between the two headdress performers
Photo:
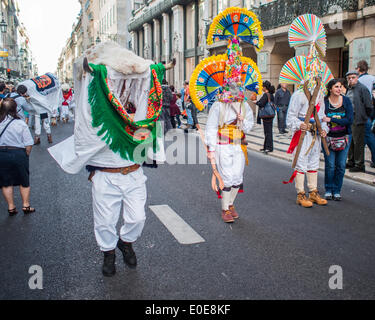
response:
[[[258,118],[263,120],[263,129],[264,129],[264,145],[263,151],[265,154],[273,151],[273,119],[276,114],[274,107],[274,93],[275,87],[269,81],[263,82],[263,96],[256,103],[259,107]]]

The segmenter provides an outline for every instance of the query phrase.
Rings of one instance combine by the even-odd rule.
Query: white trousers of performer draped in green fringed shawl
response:
[[[134,242],[141,235],[146,220],[146,180],[142,168],[127,175],[96,171],[92,200],[95,238],[101,251],[115,249],[119,237]],[[124,224],[118,236],[121,209]]]

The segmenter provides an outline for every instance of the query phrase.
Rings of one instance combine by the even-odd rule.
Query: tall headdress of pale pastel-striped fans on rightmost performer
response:
[[[297,17],[290,26],[289,45],[292,48],[309,46],[307,56],[296,56],[290,59],[281,69],[279,82],[296,84],[302,89],[305,81],[309,81],[312,90],[319,77],[321,91],[326,91],[326,84],[333,79],[333,75],[327,64],[320,59],[325,56],[327,48],[327,37],[324,26],[320,19],[313,14],[304,14]]]

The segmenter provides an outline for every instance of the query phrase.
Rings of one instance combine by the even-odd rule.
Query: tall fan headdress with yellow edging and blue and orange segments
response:
[[[211,24],[209,45],[228,41],[227,53],[204,59],[194,70],[190,80],[190,95],[194,105],[203,110],[216,97],[219,101],[242,101],[245,89],[259,93],[262,76],[256,63],[242,56],[240,42],[245,41],[257,50],[263,47],[263,33],[257,16],[244,8],[228,8]],[[236,86],[239,93],[232,96],[230,88]]]

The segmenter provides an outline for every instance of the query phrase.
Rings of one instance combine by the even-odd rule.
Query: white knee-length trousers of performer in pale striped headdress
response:
[[[297,171],[307,172],[309,170],[314,170],[314,171],[319,170],[320,151],[321,151],[321,146],[320,146],[321,138],[319,134],[315,140],[315,144],[312,147],[311,151],[306,155],[306,152],[309,150],[312,141],[313,141],[313,136],[311,135],[310,132],[306,132],[305,138],[303,139],[301,152],[299,154],[297,164],[296,164]]]

